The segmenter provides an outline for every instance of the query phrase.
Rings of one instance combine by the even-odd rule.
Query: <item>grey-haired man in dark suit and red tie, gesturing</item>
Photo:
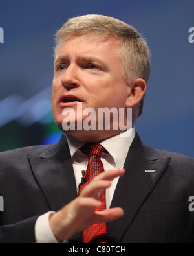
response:
[[[194,160],[145,145],[133,128],[149,72],[149,49],[133,27],[98,15],[63,25],[56,35],[52,111],[57,126],[70,129],[53,145],[0,154],[1,242],[84,242],[90,227],[96,225],[95,233],[101,224],[105,242],[194,241]],[[109,129],[105,114],[88,121],[88,110],[100,108],[124,110],[122,125],[115,126],[114,114]],[[103,147],[105,171],[88,182],[90,159],[82,150],[90,143]],[[97,211],[104,191],[106,209]]]

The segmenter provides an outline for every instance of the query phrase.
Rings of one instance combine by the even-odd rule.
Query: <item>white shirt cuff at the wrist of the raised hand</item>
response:
[[[36,220],[35,224],[35,238],[36,243],[58,243],[56,237],[52,233],[52,229],[49,224],[49,216],[51,213],[55,213],[54,211],[48,211],[44,215],[41,215]],[[64,240],[63,243],[68,242]]]

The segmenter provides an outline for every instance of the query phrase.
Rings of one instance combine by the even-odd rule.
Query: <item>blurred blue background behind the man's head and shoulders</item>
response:
[[[133,25],[151,48],[140,137],[194,157],[193,11],[193,0],[0,0],[0,151],[59,139],[51,110],[54,34],[70,17],[104,14]]]

